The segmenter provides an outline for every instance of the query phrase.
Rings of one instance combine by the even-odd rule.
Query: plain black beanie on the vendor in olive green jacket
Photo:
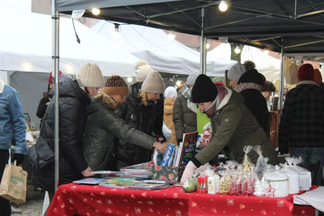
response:
[[[213,81],[206,75],[200,74],[191,90],[193,103],[206,103],[214,101],[218,91]]]

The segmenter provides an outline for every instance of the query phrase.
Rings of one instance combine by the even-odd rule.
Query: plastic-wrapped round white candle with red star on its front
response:
[[[280,167],[275,166],[276,171],[264,177],[266,197],[287,197],[288,176],[279,172]]]

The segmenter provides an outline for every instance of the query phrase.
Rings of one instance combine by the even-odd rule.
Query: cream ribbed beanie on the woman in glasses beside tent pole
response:
[[[105,79],[97,64],[86,63],[77,75],[84,87],[102,88],[105,84]]]

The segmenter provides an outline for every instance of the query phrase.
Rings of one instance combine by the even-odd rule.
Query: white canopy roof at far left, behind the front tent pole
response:
[[[51,16],[22,12],[0,2],[0,70],[46,72],[52,70]],[[8,8],[8,10],[6,9]],[[19,13],[19,16],[17,14]],[[23,18],[22,18],[23,17]],[[81,40],[77,43],[72,19],[60,18],[60,70],[75,74],[83,64],[96,63],[104,76],[133,76],[139,60],[105,40],[80,22],[74,21]]]

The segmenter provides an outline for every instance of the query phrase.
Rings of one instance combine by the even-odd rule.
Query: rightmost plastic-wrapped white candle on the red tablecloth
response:
[[[285,157],[285,160],[288,163],[288,169],[298,173],[299,189],[309,190],[312,187],[311,173],[307,169],[297,166],[303,162],[303,159],[301,157]]]

